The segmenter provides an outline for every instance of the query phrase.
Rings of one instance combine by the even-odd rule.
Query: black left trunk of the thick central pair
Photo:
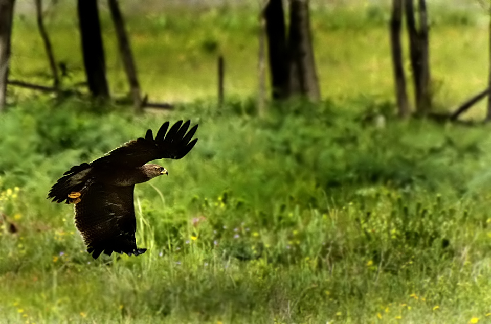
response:
[[[273,99],[289,97],[288,49],[282,0],[269,0],[263,11]]]

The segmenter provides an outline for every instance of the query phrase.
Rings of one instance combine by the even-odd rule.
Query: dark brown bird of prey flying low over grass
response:
[[[133,188],[167,170],[146,164],[160,158],[180,159],[191,151],[198,125],[189,131],[191,122],[175,123],[169,131],[165,122],[153,138],[149,129],[145,138],[132,140],[106,155],[72,167],[51,187],[48,199],[75,204],[75,225],[87,252],[97,259],[102,252],[138,256],[146,251],[135,240],[137,222],[133,207]]]

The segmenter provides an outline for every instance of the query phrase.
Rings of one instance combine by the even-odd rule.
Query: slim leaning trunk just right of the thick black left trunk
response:
[[[133,54],[131,53],[131,47],[129,45],[129,39],[124,27],[124,20],[119,9],[118,0],[108,0],[109,10],[111,11],[111,17],[113,18],[114,27],[116,28],[116,35],[118,36],[119,53],[123,60],[124,71],[128,78],[131,97],[133,99],[133,107],[135,112],[143,112],[142,96],[140,90],[140,83],[138,82],[137,68],[135,60],[133,60]]]

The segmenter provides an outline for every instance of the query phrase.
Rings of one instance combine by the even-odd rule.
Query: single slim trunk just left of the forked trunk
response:
[[[400,42],[401,21],[403,18],[403,0],[392,0],[392,15],[390,18],[390,45],[392,65],[394,69],[395,94],[399,117],[409,116],[410,109],[406,92],[406,76],[404,74],[403,49]]]

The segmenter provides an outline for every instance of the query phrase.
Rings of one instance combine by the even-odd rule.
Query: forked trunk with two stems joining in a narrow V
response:
[[[425,115],[431,109],[428,18],[425,0],[419,0],[419,29],[416,27],[413,0],[405,0],[409,33],[411,67],[413,70],[416,111]]]

